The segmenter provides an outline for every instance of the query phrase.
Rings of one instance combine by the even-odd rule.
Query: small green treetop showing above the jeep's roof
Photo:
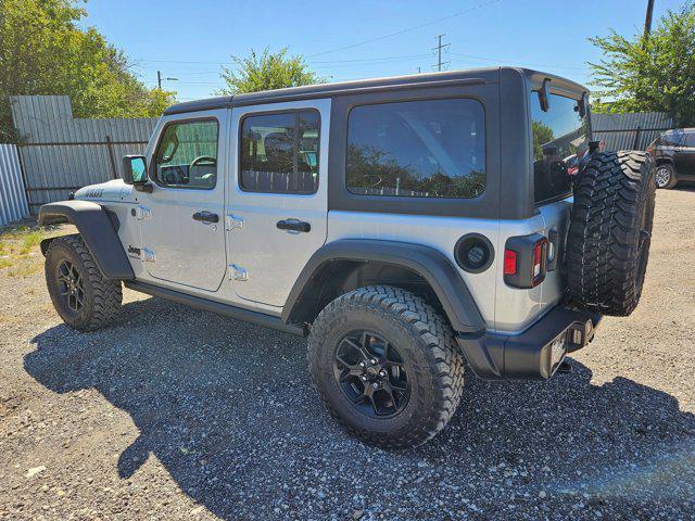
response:
[[[273,54],[266,47],[263,54],[252,49],[247,58],[231,56],[237,69],[222,67],[220,76],[227,82],[227,87],[217,93],[240,94],[325,81],[309,71],[304,59],[288,56],[287,52],[285,48]]]

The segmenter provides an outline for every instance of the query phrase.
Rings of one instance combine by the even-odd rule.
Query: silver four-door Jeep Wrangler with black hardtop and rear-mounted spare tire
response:
[[[122,284],[308,336],[362,440],[410,447],[484,379],[548,379],[637,305],[655,179],[592,141],[587,90],[501,67],[169,107],[123,180],[41,207],[53,304],[80,331]]]

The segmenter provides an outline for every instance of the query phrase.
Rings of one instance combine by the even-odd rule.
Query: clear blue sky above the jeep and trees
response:
[[[437,35],[445,68],[521,65],[589,82],[586,41],[609,28],[642,30],[646,0],[464,0],[427,2],[91,0],[96,26],[136,64],[149,86],[156,71],[179,100],[211,96],[219,67],[251,48],[288,47],[329,81],[432,71]],[[655,23],[682,1],[656,0]]]

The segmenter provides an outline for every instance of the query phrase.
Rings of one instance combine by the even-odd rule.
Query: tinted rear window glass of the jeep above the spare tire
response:
[[[543,112],[538,92],[530,93],[536,203],[571,193],[571,178],[590,138],[589,117],[579,115],[577,100],[551,94],[548,101],[549,109]]]

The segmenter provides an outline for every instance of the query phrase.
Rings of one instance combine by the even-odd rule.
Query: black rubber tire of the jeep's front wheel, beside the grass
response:
[[[64,271],[76,274],[81,288],[81,293],[76,293],[81,295],[81,305],[76,304],[77,295],[70,296],[65,278],[61,279]],[[67,326],[78,331],[101,329],[121,314],[121,281],[104,278],[79,234],[51,241],[46,252],[46,282],[55,310]]]

